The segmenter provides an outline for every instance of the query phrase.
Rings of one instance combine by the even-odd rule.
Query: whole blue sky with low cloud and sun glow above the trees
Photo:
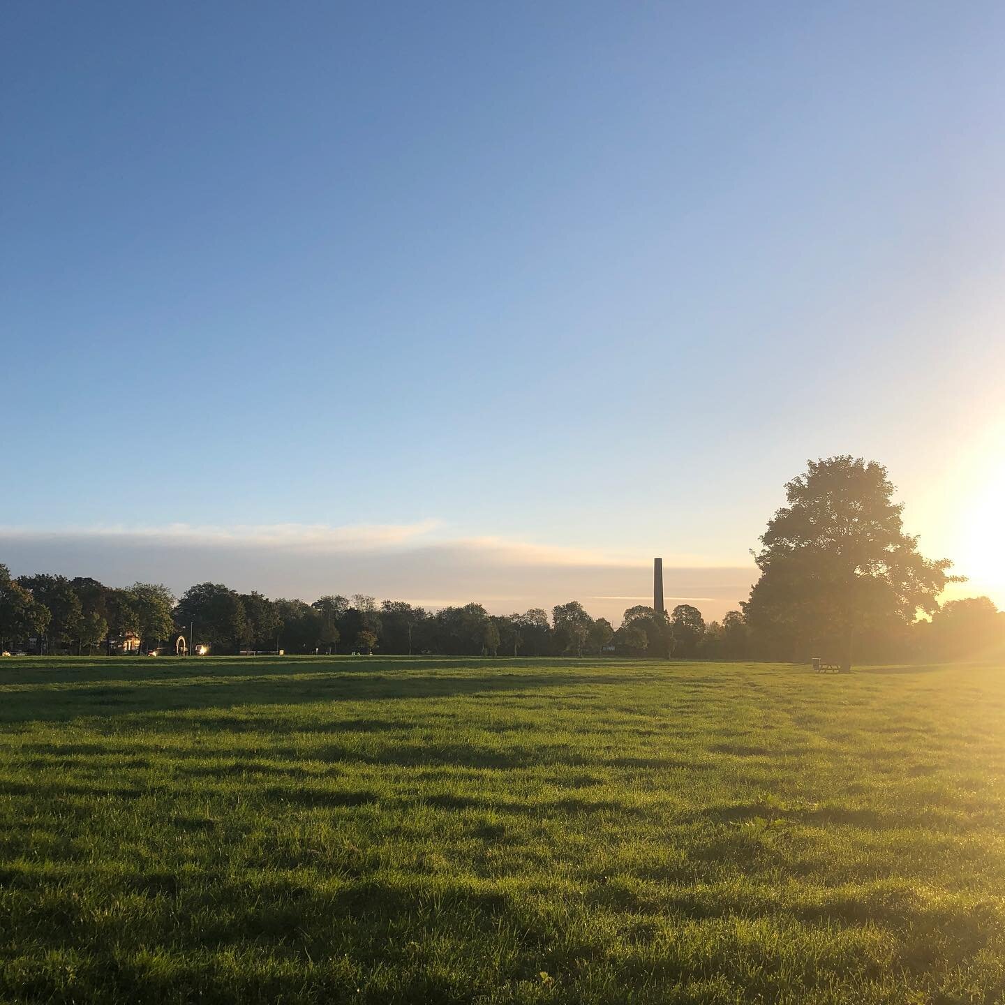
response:
[[[1005,605],[1001,4],[3,22],[14,571],[718,616],[841,452]]]

